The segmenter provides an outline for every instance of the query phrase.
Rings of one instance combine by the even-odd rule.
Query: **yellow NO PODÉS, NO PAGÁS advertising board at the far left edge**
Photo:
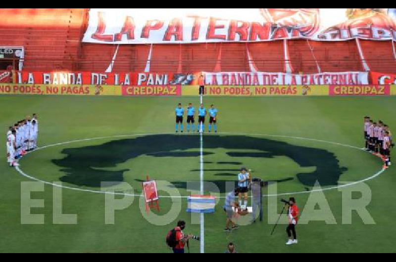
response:
[[[121,86],[1,84],[0,94],[121,95]]]

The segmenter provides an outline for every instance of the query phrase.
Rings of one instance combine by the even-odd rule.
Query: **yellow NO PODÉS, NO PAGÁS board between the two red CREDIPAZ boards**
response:
[[[198,95],[199,86],[182,86],[182,95]],[[329,95],[329,86],[205,86],[205,95],[298,96]]]

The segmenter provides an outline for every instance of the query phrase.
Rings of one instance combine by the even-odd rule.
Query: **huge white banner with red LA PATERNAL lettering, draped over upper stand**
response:
[[[92,8],[83,42],[396,40],[396,8]]]

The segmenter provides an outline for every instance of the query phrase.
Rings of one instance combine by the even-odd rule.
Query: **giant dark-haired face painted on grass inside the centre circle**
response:
[[[241,166],[250,165],[249,168],[266,181],[293,180],[301,184],[302,190],[312,187],[316,181],[321,186],[337,185],[340,175],[346,171],[339,166],[336,156],[327,150],[247,135],[205,136],[203,151],[204,180],[215,183],[220,192],[225,192],[226,181],[237,180]],[[199,180],[197,135],[147,135],[66,148],[61,153],[66,155],[63,159],[52,160],[64,173],[59,180],[78,186],[99,188],[100,182],[114,181],[117,184],[131,179],[140,182],[150,175],[185,189],[187,181]],[[279,162],[268,167],[262,166],[263,161]],[[282,174],[282,165],[286,161],[293,165],[292,173],[287,177]],[[143,171],[134,172],[135,177],[125,177],[130,171],[142,170],[142,167]],[[275,173],[272,179],[268,179],[266,169]]]

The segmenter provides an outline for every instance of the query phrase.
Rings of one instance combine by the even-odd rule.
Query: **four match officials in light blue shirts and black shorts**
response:
[[[180,132],[184,131],[183,127],[183,118],[184,114],[187,112],[187,132],[195,132],[196,131],[196,126],[195,126],[195,117],[196,117],[196,110],[195,107],[193,106],[192,103],[189,103],[187,106],[187,109],[184,110],[182,107],[182,104],[179,103],[175,109],[175,115],[176,115],[176,132],[179,131],[179,126],[180,126]],[[210,105],[210,108],[206,110],[206,108],[203,106],[203,104],[200,104],[198,108],[198,123],[197,123],[197,132],[205,131],[205,117],[206,115],[209,115],[209,125],[208,125],[208,131],[209,133],[212,131],[212,125],[213,125],[213,131],[216,133],[217,132],[217,116],[218,116],[218,110],[215,108],[215,106],[212,104]]]

